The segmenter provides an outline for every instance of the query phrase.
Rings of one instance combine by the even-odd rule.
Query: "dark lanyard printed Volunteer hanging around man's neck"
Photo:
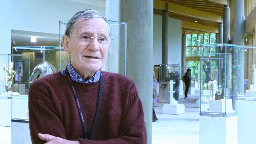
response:
[[[78,99],[78,95],[76,93],[76,90],[75,90],[75,87],[74,87],[74,84],[71,80],[71,77],[70,77],[70,74],[68,72],[68,67],[66,68],[66,77],[68,78],[68,82],[69,82],[69,85],[70,85],[70,88],[73,92],[73,95],[75,97],[75,100],[76,100],[76,105],[77,105],[77,108],[79,110],[79,114],[80,114],[80,117],[81,117],[81,120],[82,120],[82,123],[83,123],[83,126],[84,126],[84,138],[85,139],[88,139],[88,136],[87,136],[87,129],[86,129],[86,126],[85,126],[85,121],[84,121],[84,113],[83,113],[83,110],[82,110],[82,107],[81,107],[81,104],[80,104],[80,101]],[[97,122],[98,122],[98,119],[99,119],[99,115],[100,115],[100,104],[101,104],[101,97],[102,97],[102,88],[103,88],[103,78],[102,78],[102,75],[100,75],[100,93],[99,93],[99,100],[98,100],[98,106],[97,106],[97,112],[96,112],[96,116],[95,116],[95,120],[94,120],[94,124],[93,124],[93,127],[92,127],[92,133],[91,133],[91,136],[90,136],[90,140],[92,140],[92,136],[95,132],[95,129],[96,129],[96,125],[97,125]]]

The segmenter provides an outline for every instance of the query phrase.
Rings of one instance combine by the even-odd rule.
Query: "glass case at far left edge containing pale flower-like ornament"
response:
[[[30,55],[0,54],[3,70],[0,77],[1,97],[22,97],[28,95],[30,76]]]

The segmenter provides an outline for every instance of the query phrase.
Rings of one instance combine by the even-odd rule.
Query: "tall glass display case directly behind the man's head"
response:
[[[66,24],[68,20],[59,22],[59,46],[63,46],[62,36],[65,33]],[[109,27],[111,30],[111,43],[108,50],[108,57],[106,59],[105,66],[102,68],[103,71],[120,73],[126,75],[126,29],[127,25],[125,22],[108,20]],[[61,52],[60,52],[61,54]],[[60,60],[63,57],[68,57],[68,54],[60,55]],[[60,68],[66,68],[67,64],[60,61]]]

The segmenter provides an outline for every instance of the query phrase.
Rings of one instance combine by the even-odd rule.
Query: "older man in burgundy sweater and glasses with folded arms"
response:
[[[106,17],[92,9],[77,12],[62,40],[71,57],[67,68],[29,88],[32,143],[147,143],[134,82],[100,71],[111,41]]]

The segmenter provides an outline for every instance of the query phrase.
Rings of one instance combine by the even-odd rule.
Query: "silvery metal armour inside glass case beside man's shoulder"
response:
[[[29,83],[32,83],[40,77],[53,74],[55,72],[56,72],[56,68],[53,65],[51,65],[48,61],[45,61],[44,63],[39,64],[34,68],[28,81]]]

